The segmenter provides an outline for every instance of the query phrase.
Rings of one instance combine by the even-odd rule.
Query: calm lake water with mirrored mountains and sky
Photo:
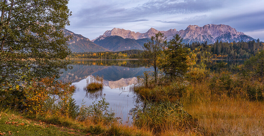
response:
[[[221,60],[192,60],[194,66],[205,64],[206,67],[214,70],[214,66]],[[243,64],[244,61],[225,60],[227,69],[231,70],[233,65]],[[81,105],[85,101],[87,105],[94,101],[99,101],[105,94],[107,102],[110,103],[109,110],[115,111],[117,117],[123,121],[128,121],[128,113],[136,104],[135,94],[129,88],[136,83],[136,77],[142,75],[149,69],[140,66],[138,60],[72,60],[70,66],[72,70],[64,71],[60,80],[72,82],[78,90],[73,98]],[[86,92],[83,88],[87,85],[86,79],[89,76],[103,75],[104,88],[102,91]]]

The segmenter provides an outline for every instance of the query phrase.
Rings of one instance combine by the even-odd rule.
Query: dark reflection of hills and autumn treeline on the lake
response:
[[[73,60],[70,63],[73,69],[63,71],[60,80],[79,82],[89,75],[103,75],[103,79],[107,81],[128,79],[148,71],[145,67],[140,67],[138,63],[138,60]]]

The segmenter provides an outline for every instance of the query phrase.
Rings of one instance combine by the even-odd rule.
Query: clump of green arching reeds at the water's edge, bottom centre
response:
[[[192,118],[180,102],[146,102],[145,107],[136,112],[134,125],[150,130],[154,134],[169,131],[186,132],[199,128],[197,119]]]

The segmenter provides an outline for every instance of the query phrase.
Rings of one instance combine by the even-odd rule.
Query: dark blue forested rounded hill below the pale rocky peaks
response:
[[[149,40],[148,38],[143,38],[139,40],[131,39],[131,38],[122,38],[121,36],[105,36],[102,39],[98,38],[94,41],[95,44],[102,46],[108,50],[112,51],[123,51],[123,50],[132,50],[139,49],[142,50],[142,46],[144,43]]]

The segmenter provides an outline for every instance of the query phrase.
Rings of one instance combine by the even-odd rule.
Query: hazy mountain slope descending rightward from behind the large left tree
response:
[[[67,29],[64,29],[65,35],[72,35],[72,39],[69,39],[69,48],[72,52],[95,52],[95,51],[110,51],[108,49],[105,49],[99,45],[96,45],[92,41],[90,41],[88,38],[80,35],[75,34]]]

